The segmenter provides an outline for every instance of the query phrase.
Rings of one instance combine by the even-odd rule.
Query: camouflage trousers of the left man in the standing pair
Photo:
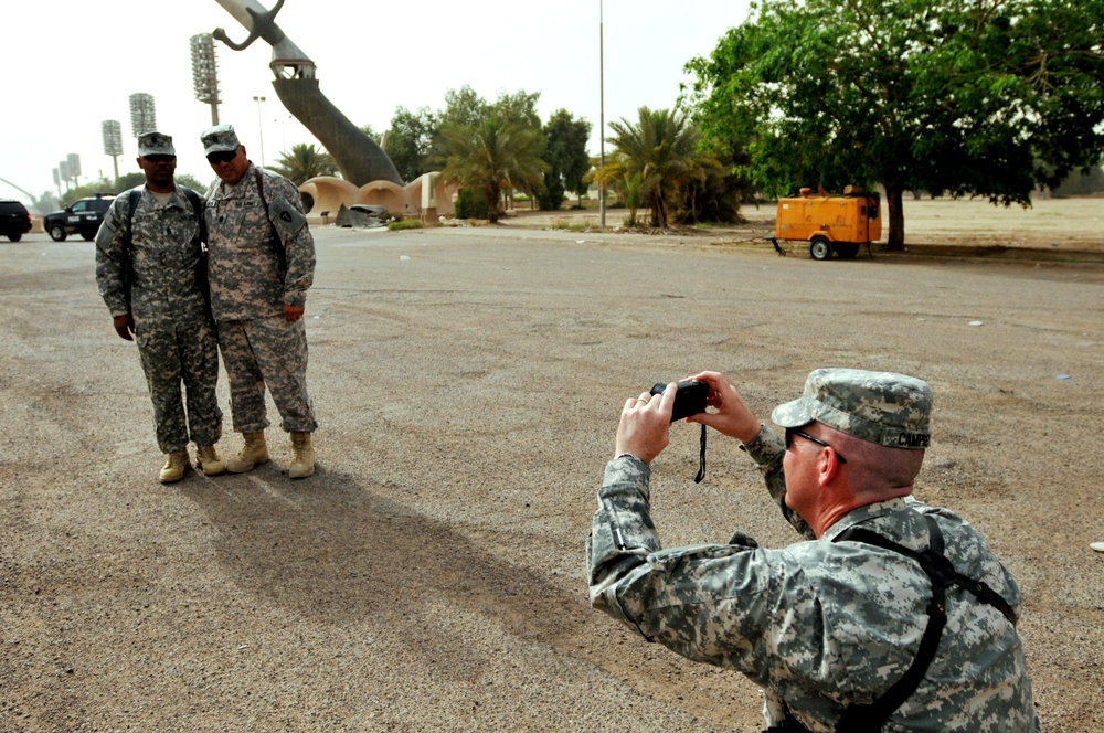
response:
[[[144,329],[139,325],[135,340],[141,368],[153,402],[153,425],[162,453],[177,453],[188,446],[214,445],[222,437],[222,411],[215,396],[219,383],[219,339],[214,323],[176,330]],[[183,383],[188,400],[181,399]]]

